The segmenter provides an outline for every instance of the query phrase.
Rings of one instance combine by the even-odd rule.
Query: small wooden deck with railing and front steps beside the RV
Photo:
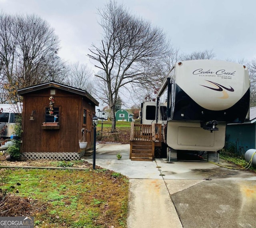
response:
[[[131,123],[130,159],[132,161],[152,161],[155,142],[161,138],[161,124]]]

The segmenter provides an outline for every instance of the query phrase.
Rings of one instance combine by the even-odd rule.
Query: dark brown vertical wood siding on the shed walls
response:
[[[50,89],[24,94],[22,152],[80,152],[78,140],[82,137],[82,128],[92,128],[89,121],[82,125],[83,108],[95,113],[95,106],[88,98],[56,89],[54,107],[59,107],[60,129],[44,130],[41,126],[45,121],[45,108],[49,107]],[[30,120],[33,110],[35,120]],[[86,150],[92,148],[91,141]]]

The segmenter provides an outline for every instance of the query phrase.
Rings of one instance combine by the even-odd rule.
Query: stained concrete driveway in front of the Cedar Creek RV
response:
[[[256,227],[255,174],[200,161],[131,161],[129,152],[129,144],[96,146],[97,166],[130,178],[128,228]]]

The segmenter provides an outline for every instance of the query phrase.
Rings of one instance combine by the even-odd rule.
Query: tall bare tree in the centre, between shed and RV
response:
[[[89,57],[98,62],[100,74],[96,76],[106,89],[114,132],[118,91],[128,84],[152,82],[156,63],[168,54],[169,46],[162,29],[152,27],[115,1],[110,0],[98,14],[104,34],[100,47],[92,45]]]

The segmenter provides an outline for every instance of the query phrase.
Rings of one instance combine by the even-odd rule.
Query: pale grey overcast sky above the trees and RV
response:
[[[101,40],[97,9],[106,0],[0,0],[7,14],[36,14],[60,38],[59,56],[92,67],[88,48]],[[173,47],[189,54],[213,50],[216,59],[256,58],[254,0],[118,0],[130,12],[166,32]]]

